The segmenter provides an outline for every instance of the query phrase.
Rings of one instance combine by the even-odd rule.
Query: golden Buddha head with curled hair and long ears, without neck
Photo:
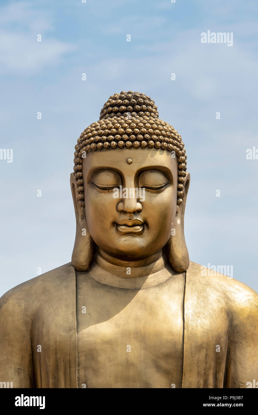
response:
[[[89,270],[96,250],[120,261],[164,255],[188,268],[183,219],[190,175],[181,136],[145,94],[111,95],[75,146],[72,266]]]

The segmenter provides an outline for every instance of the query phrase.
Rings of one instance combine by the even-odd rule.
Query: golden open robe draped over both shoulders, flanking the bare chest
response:
[[[190,262],[186,271],[181,387],[246,388],[258,381],[258,294],[221,274],[203,276],[202,269]],[[76,274],[70,263],[0,299],[0,382],[78,387]]]

